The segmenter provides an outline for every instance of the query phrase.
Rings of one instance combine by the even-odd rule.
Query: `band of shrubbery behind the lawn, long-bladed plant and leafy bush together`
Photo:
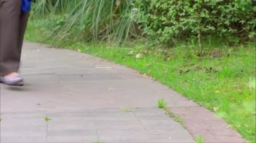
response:
[[[150,44],[220,38],[256,40],[251,0],[36,0],[33,17],[50,17],[53,36],[120,44],[146,36]],[[199,37],[199,38],[201,38]]]

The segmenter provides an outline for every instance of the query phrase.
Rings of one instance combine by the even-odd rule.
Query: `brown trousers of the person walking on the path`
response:
[[[28,13],[21,0],[0,0],[0,75],[18,72]]]

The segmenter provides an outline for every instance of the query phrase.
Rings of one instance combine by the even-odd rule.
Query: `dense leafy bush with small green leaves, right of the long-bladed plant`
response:
[[[137,22],[152,44],[196,36],[227,42],[256,40],[256,6],[251,0],[138,0]]]

